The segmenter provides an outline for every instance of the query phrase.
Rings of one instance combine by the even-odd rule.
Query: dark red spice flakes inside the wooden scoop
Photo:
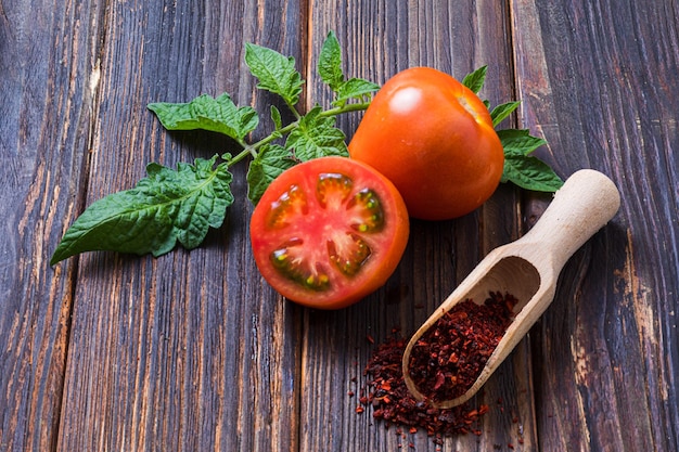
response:
[[[438,319],[410,353],[420,392],[434,402],[466,392],[512,323],[515,305],[512,295],[491,292],[483,305],[466,299]]]

